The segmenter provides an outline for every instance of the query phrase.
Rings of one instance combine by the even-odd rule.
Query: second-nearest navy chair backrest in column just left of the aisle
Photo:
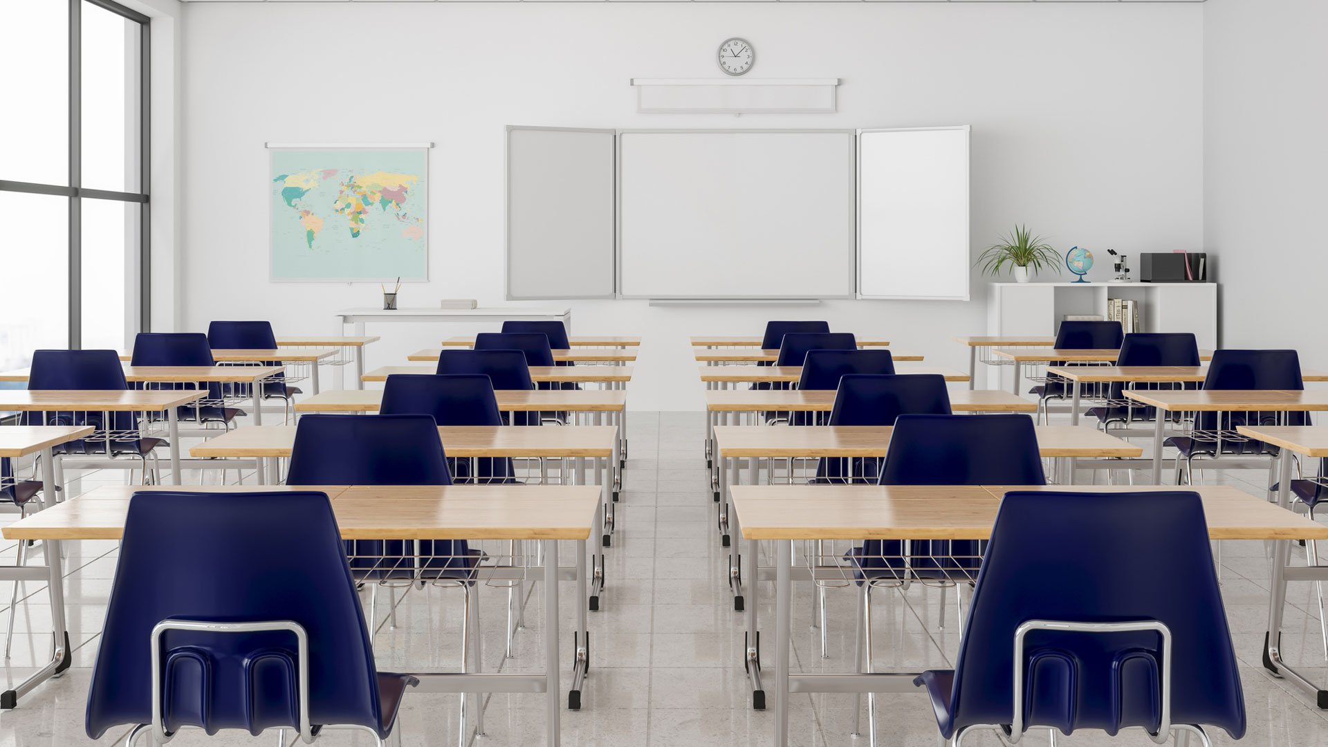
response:
[[[450,485],[429,415],[305,415],[288,485]]]

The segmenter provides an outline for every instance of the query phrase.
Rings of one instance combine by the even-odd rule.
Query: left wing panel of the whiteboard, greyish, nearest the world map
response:
[[[507,128],[507,299],[614,298],[614,130]]]

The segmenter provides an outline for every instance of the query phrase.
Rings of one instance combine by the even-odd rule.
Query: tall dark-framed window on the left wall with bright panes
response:
[[[147,328],[147,17],[20,0],[0,66],[0,370]]]

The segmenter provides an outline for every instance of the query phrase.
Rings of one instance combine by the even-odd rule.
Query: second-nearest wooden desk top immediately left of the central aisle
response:
[[[442,451],[450,457],[607,457],[614,453],[612,425],[444,425]],[[288,457],[295,425],[240,425],[189,449],[206,457]]]

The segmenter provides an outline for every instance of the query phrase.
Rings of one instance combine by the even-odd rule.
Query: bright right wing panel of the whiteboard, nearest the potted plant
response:
[[[969,128],[858,136],[858,292],[968,300]]]

